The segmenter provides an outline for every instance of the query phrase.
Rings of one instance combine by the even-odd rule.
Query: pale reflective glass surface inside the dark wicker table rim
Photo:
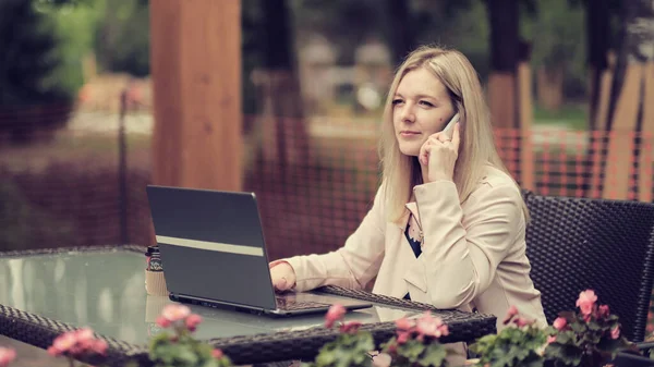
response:
[[[145,344],[159,331],[156,318],[172,301],[145,292],[144,257],[122,250],[0,258],[0,304],[90,327],[99,334]],[[334,296],[330,296],[334,297]],[[204,321],[199,339],[252,335],[322,327],[324,315],[271,318],[223,308],[190,306]],[[420,311],[375,304],[346,320],[392,321]]]

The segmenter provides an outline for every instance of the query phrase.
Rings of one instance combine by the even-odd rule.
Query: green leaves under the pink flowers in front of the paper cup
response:
[[[229,357],[215,358],[214,348],[195,340],[187,330],[175,337],[167,332],[157,334],[150,341],[149,357],[156,367],[227,367]]]

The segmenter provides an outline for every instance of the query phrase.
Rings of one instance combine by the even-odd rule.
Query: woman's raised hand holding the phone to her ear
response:
[[[451,139],[447,132],[439,132],[429,136],[422,145],[419,160],[423,172],[425,169],[427,171],[427,182],[453,180],[455,164],[459,157],[459,123],[457,123]]]

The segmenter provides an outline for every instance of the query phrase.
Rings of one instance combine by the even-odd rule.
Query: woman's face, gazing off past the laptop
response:
[[[425,68],[402,77],[392,98],[392,124],[400,151],[417,156],[432,134],[455,115],[455,107],[440,81]]]

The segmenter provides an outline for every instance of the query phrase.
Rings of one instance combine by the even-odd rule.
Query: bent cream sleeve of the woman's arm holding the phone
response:
[[[451,181],[417,185],[414,194],[424,245],[410,278],[425,281],[438,308],[468,304],[488,288],[499,262],[524,233],[521,194],[512,182],[484,183],[470,196],[465,218]]]

